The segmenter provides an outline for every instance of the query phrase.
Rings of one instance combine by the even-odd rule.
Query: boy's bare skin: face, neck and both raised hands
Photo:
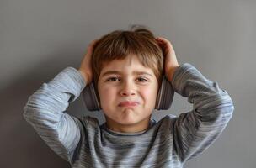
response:
[[[94,39],[88,45],[78,69],[88,83],[93,79],[90,62],[93,46],[97,41],[98,39]],[[162,37],[157,38],[157,43],[163,49],[165,76],[168,81],[172,81],[173,73],[179,67],[173,45]],[[120,73],[102,76],[109,70]],[[138,70],[146,71],[152,76],[132,73]],[[105,65],[99,76],[98,89],[107,127],[122,133],[135,133],[147,129],[156,103],[157,87],[157,78],[153,71],[142,66],[136,55],[128,55],[125,60],[113,60]],[[136,101],[139,104],[135,107],[119,107],[119,103],[125,100]]]

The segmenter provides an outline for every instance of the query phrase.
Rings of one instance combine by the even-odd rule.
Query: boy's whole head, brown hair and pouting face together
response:
[[[131,31],[115,30],[104,35],[94,46],[92,67],[109,128],[122,132],[147,128],[163,79],[163,53],[152,32],[133,26]],[[107,71],[112,73],[104,75]],[[124,101],[138,103],[120,105]]]

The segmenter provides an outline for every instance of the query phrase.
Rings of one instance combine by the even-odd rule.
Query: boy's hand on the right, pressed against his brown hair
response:
[[[179,67],[175,51],[173,50],[173,45],[168,39],[162,37],[157,37],[157,43],[163,50],[165,75],[167,76],[168,81],[172,82],[173,73],[176,68]]]

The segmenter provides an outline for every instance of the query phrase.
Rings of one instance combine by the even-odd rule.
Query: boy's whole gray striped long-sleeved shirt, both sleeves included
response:
[[[86,86],[80,72],[69,66],[29,97],[24,118],[73,168],[180,168],[217,139],[234,106],[225,90],[189,63],[176,69],[172,84],[175,92],[193,103],[191,111],[151,120],[145,131],[118,133],[100,125],[97,118],[65,113]]]

